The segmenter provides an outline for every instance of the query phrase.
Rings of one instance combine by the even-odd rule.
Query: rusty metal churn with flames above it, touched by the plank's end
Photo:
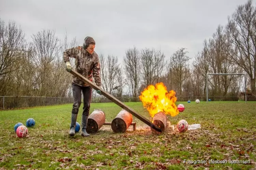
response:
[[[155,114],[155,116],[153,117],[153,123],[155,125],[157,125],[162,130],[162,133],[163,133],[165,131],[166,125],[167,125],[166,114],[163,112],[158,112],[157,114]],[[155,134],[160,133],[160,132],[157,132],[156,130],[154,130],[153,128],[151,128],[151,131],[152,131],[152,133],[155,133]]]

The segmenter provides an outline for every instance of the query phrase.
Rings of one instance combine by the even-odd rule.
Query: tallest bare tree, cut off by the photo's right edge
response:
[[[239,5],[228,18],[226,27],[229,41],[233,45],[230,60],[239,65],[250,77],[251,89],[256,93],[256,7],[248,0]]]

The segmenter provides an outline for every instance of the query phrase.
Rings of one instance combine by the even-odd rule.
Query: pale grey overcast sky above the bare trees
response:
[[[95,51],[123,61],[128,48],[161,48],[166,57],[178,48],[195,57],[203,40],[225,25],[237,5],[246,0],[0,0],[0,18],[20,24],[26,37],[53,29],[67,30],[82,45],[86,36]],[[254,0],[255,3],[255,0]]]

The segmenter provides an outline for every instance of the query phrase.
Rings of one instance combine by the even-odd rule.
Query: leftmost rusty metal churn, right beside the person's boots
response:
[[[101,109],[95,109],[88,117],[86,131],[96,133],[105,122],[105,113]]]

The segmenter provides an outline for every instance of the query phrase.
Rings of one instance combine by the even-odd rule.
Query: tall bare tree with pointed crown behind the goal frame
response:
[[[234,73],[237,65],[230,62],[226,49],[230,49],[231,44],[222,26],[218,26],[213,37],[204,41],[204,57],[209,63],[209,73]],[[234,75],[212,76],[212,95],[226,95],[230,82]]]

